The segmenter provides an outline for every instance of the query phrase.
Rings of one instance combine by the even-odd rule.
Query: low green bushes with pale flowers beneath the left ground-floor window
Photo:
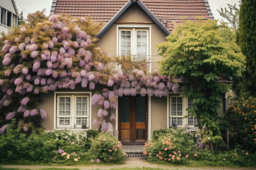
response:
[[[15,120],[8,126],[7,132],[0,135],[0,163],[79,163],[86,160],[89,148],[86,148],[83,131],[52,130],[40,134],[32,131],[27,136],[20,133],[21,128],[14,128]]]

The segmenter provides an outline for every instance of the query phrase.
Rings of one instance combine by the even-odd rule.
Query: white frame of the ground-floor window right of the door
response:
[[[188,111],[186,110],[186,108],[188,108],[189,104],[191,104],[188,101],[188,97],[182,97],[182,115],[171,115],[171,112],[172,112],[171,97],[180,97],[180,95],[169,95],[169,97],[168,97],[168,113],[167,113],[168,127],[172,126],[172,118],[177,117],[177,118],[182,118],[182,125],[177,125],[176,127],[185,128],[187,126],[189,129],[191,129],[191,131],[193,131],[195,129],[195,126],[189,125],[189,118],[184,118],[184,116],[188,115]],[[193,117],[193,120],[194,120],[194,122],[197,121],[197,119],[194,117]]]

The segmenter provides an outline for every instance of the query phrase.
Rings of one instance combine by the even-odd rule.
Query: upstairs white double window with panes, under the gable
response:
[[[119,55],[132,55],[137,60],[149,58],[148,28],[121,28],[118,42]]]

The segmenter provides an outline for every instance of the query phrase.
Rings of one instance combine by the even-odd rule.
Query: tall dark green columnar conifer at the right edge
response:
[[[240,5],[239,46],[246,56],[246,71],[243,75],[245,89],[238,89],[243,96],[256,95],[256,4],[254,0],[242,0]]]

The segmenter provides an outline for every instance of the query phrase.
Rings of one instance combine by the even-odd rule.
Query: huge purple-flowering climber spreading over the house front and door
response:
[[[158,71],[138,69],[146,68],[146,64],[135,66],[136,62],[122,61],[122,70],[109,68],[107,61],[120,59],[108,56],[94,44],[96,39],[83,31],[90,31],[92,25],[84,18],[50,15],[32,28],[24,25],[7,36],[0,57],[0,110],[7,118],[1,127],[17,117],[20,126],[34,122],[40,127],[47,113],[37,108],[38,95],[61,88],[75,89],[79,85],[94,90],[97,84],[106,86],[92,96],[92,104],[103,109],[94,120],[99,125],[115,120],[110,109],[117,107],[118,97],[135,96],[137,91],[143,96],[163,97],[169,91],[178,91],[177,80]],[[111,129],[104,126],[102,130]]]

